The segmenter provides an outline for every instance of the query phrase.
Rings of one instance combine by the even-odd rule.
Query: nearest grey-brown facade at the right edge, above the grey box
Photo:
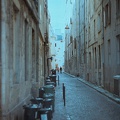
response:
[[[107,22],[106,7],[110,7],[110,18]],[[119,60],[119,35],[120,35],[120,17],[116,9],[118,3],[116,1],[103,2],[104,7],[104,48],[105,48],[105,89],[114,91],[113,76],[120,74]],[[117,45],[118,44],[118,45]]]

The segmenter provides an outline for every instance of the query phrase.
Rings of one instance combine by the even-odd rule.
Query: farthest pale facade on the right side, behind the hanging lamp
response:
[[[71,16],[69,16],[69,24],[65,27],[65,71],[76,75],[77,74],[77,41],[78,38],[76,37],[76,26],[78,26],[77,20],[77,11],[75,2],[72,1],[71,4]]]

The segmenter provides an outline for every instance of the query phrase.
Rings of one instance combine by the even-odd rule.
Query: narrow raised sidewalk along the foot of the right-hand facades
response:
[[[88,82],[88,81],[85,81],[85,80],[83,80],[83,79],[81,79],[81,78],[79,78],[79,77],[76,77],[76,76],[74,76],[74,75],[68,74],[68,73],[66,73],[66,72],[65,72],[65,74],[67,74],[67,75],[69,75],[69,76],[71,76],[71,77],[77,78],[78,80],[80,80],[80,81],[83,82],[84,84],[88,85],[89,87],[97,90],[97,91],[100,92],[101,94],[107,96],[107,97],[110,98],[111,100],[113,100],[113,101],[115,101],[116,103],[120,104],[120,98],[118,98],[118,97],[115,96],[114,94],[108,92],[107,90],[104,90],[104,89],[101,88],[100,86],[96,86],[96,85],[94,85],[94,84],[92,84],[92,83],[90,83],[90,82]]]

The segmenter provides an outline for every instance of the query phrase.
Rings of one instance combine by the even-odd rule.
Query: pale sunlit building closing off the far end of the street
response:
[[[60,30],[56,30],[53,35],[50,36],[51,44],[51,55],[53,56],[52,68],[64,68],[64,50],[65,50],[65,41],[64,35]]]

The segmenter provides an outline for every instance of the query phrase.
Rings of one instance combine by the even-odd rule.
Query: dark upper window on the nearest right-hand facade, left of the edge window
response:
[[[111,3],[110,1],[105,6],[104,10],[104,26],[107,27],[111,23]]]

